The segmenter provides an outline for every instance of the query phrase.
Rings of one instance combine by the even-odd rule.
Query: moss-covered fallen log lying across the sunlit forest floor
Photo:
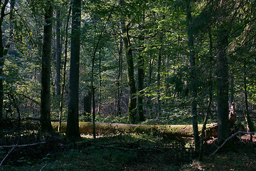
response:
[[[58,123],[52,123],[54,130],[58,130]],[[206,127],[210,128],[213,124],[208,124]],[[203,125],[198,125],[201,131]],[[67,123],[61,124],[62,133],[65,133]],[[95,123],[96,133],[98,135],[105,135],[109,133],[138,133],[138,134],[153,134],[161,137],[193,137],[192,125],[135,125],[123,123]],[[91,122],[79,123],[80,133],[92,133]]]

